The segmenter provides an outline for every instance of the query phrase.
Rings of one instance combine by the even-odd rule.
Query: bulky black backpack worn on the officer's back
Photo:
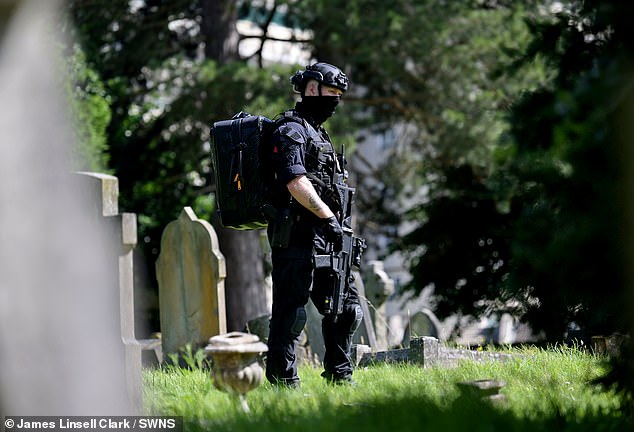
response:
[[[226,228],[265,228],[271,217],[270,137],[275,122],[239,112],[211,128],[216,209]]]

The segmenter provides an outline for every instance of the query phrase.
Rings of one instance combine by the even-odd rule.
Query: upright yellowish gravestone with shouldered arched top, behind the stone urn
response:
[[[163,231],[156,275],[164,355],[227,332],[225,259],[211,224],[190,207]]]

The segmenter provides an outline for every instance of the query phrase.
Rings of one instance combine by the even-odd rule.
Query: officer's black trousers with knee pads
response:
[[[272,227],[269,227],[269,232]],[[273,308],[269,328],[266,377],[272,383],[299,384],[295,349],[306,324],[305,305],[309,298],[319,308],[323,296],[333,289],[333,278],[327,269],[313,269],[313,250],[321,252],[323,240],[312,225],[296,224],[294,239],[306,238],[311,230],[313,242],[305,245],[291,244],[285,248],[272,248]],[[320,312],[322,312],[320,310]],[[352,336],[359,327],[362,313],[358,292],[348,281],[343,313],[336,321],[326,315],[322,319],[322,333],[326,353],[324,376],[329,379],[349,379],[352,375],[350,349]]]

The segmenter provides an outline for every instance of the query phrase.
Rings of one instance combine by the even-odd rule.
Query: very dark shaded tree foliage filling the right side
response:
[[[528,21],[516,65],[543,59],[553,78],[513,104],[492,170],[441,166],[414,210],[415,282],[434,285],[439,311],[516,312],[549,340],[571,323],[625,330],[614,115],[629,88],[628,8],[571,2]]]

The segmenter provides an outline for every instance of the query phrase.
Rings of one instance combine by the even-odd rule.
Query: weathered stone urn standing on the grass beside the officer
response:
[[[264,370],[259,356],[268,351],[256,335],[231,332],[209,339],[205,353],[212,359],[211,378],[218,390],[236,395],[249,412],[245,395],[262,383]]]

